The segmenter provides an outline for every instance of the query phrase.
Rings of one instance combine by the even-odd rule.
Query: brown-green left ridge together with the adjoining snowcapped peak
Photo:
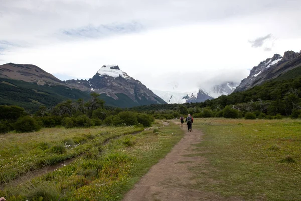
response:
[[[89,80],[61,81],[35,65],[0,65],[0,105],[17,105],[30,111],[52,107],[66,99],[88,99],[97,92],[107,106],[134,107],[166,102],[117,65],[104,65]]]

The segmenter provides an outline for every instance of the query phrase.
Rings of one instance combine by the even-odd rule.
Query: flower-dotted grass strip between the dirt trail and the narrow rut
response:
[[[111,132],[114,128],[103,129]],[[126,127],[117,129],[124,131]],[[68,139],[84,133],[80,129],[73,131]],[[92,140],[94,144],[91,142],[93,146],[71,164],[30,182],[8,186],[0,194],[8,200],[57,200],[58,197],[60,200],[121,200],[124,193],[170,152],[182,137],[183,131],[173,125],[160,128],[159,134],[154,134],[152,130],[143,131],[111,139],[105,145],[96,137]],[[46,150],[50,147],[41,142],[40,145]]]

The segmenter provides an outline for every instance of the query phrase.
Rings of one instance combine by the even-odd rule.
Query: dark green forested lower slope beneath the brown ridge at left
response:
[[[88,93],[63,85],[36,83],[0,78],[0,105],[15,105],[34,112],[40,106],[53,107],[66,99],[89,99]]]

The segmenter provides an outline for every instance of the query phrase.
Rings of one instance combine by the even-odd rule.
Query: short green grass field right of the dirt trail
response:
[[[191,168],[199,190],[244,200],[301,200],[301,121],[198,119],[208,163]]]

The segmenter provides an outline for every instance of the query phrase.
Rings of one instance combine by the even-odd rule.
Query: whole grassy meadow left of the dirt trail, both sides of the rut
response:
[[[1,148],[1,163],[5,164],[0,169],[1,181],[9,183],[0,195],[7,200],[121,200],[183,137],[179,126],[155,126],[148,131],[135,127],[55,128],[0,136],[6,145]],[[10,184],[26,171],[69,157],[75,159],[66,166]]]

